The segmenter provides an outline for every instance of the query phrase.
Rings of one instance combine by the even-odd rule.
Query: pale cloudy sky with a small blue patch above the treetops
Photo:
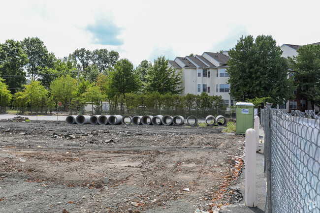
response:
[[[3,0],[0,8],[0,43],[39,37],[58,58],[106,48],[137,66],[229,50],[249,34],[320,42],[318,0]]]

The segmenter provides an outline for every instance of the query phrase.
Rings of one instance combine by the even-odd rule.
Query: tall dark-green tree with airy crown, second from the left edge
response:
[[[30,76],[32,80],[40,77],[39,71],[54,67],[56,61],[55,55],[48,52],[47,47],[40,38],[25,38],[22,41],[22,46],[28,57],[28,76]]]

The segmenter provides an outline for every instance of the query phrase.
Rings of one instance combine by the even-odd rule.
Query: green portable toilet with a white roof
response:
[[[253,103],[236,103],[236,134],[245,134],[247,129],[254,128],[254,107]]]

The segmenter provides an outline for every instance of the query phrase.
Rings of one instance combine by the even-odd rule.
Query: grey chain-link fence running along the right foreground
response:
[[[320,113],[261,110],[266,213],[320,213]]]

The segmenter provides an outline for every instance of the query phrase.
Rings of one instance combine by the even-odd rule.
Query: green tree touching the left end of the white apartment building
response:
[[[145,92],[158,91],[160,94],[171,92],[179,94],[181,88],[182,70],[177,72],[176,68],[168,66],[168,60],[160,56],[155,60],[154,65],[147,70],[146,82],[143,83]]]

